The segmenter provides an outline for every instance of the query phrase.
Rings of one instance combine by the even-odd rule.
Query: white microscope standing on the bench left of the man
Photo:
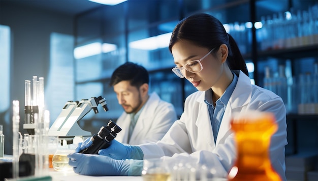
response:
[[[83,130],[77,122],[91,109],[97,114],[99,104],[104,111],[108,111],[106,100],[102,96],[82,99],[80,102],[68,101],[50,127],[48,135],[57,135],[59,140],[65,140],[67,145],[73,144],[75,137],[80,137],[83,140],[91,137],[91,132]]]

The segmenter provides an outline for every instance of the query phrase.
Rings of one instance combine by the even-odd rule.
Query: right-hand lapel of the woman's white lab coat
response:
[[[228,134],[231,134],[232,131],[230,130],[230,123],[233,113],[241,111],[242,107],[250,102],[252,93],[250,79],[242,71],[240,71],[239,74],[236,72],[236,74],[238,75],[238,81],[224,112],[217,134],[216,145],[220,142],[223,143],[225,141],[224,138],[226,138]]]

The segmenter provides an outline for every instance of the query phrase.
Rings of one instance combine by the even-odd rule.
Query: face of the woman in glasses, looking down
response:
[[[224,71],[225,61],[222,62],[220,58],[222,54],[221,49],[216,49],[201,61],[203,67],[201,72],[192,73],[187,70],[183,71],[184,77],[199,91],[206,91],[212,86],[215,86]],[[174,63],[177,67],[183,67],[183,65],[189,61],[199,60],[211,51],[187,40],[179,40],[174,44],[171,50]],[[216,54],[216,57],[213,56],[213,54]]]

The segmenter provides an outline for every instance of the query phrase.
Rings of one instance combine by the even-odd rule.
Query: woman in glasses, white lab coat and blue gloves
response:
[[[237,158],[231,117],[235,112],[257,110],[275,115],[278,130],[271,138],[269,155],[273,168],[286,180],[284,104],[274,93],[250,83],[237,44],[221,22],[208,14],[181,20],[173,30],[169,49],[176,64],[172,71],[199,90],[186,98],[180,119],[156,143],[125,146],[113,140],[99,155],[70,154],[74,171],[83,175],[141,175],[142,159],[168,156],[196,159],[226,177]],[[79,148],[90,145],[86,140]]]

